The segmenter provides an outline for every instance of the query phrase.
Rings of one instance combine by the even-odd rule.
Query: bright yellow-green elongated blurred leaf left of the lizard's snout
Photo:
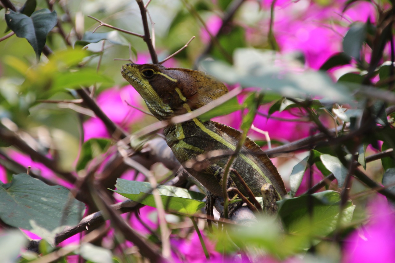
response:
[[[90,86],[95,83],[111,84],[113,79],[88,68],[83,68],[80,71],[60,72],[53,79],[51,92],[64,90],[65,88]]]

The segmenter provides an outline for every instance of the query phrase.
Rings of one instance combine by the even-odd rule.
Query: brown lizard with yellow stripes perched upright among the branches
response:
[[[121,74],[137,90],[158,120],[169,120],[192,112],[228,92],[224,83],[211,75],[186,68],[166,68],[160,64],[124,64]],[[207,188],[206,213],[212,216],[214,199],[224,197],[224,167],[235,151],[242,133],[218,122],[202,122],[199,118],[192,118],[186,122],[167,125],[164,134],[167,145],[177,160]],[[228,154],[207,158],[207,154],[215,150]],[[205,154],[206,158],[202,160],[201,157]],[[233,198],[263,195],[263,210],[270,214],[276,212],[273,203],[287,194],[276,167],[249,137],[246,137],[244,145],[235,156],[228,181],[228,187],[234,190]],[[229,206],[229,212],[242,203],[230,204],[232,207]]]

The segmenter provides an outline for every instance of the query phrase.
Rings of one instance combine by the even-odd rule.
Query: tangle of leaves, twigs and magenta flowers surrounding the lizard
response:
[[[395,260],[392,1],[0,4],[7,262]],[[127,61],[226,83],[199,118],[264,145],[289,190],[278,218],[209,232]]]

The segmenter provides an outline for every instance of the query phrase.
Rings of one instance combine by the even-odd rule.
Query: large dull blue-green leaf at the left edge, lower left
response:
[[[24,173],[9,184],[0,183],[0,218],[50,243],[65,226],[78,224],[84,210],[63,186],[49,186]]]

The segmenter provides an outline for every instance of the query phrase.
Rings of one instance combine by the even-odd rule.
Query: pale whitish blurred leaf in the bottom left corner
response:
[[[17,261],[21,251],[25,248],[28,240],[19,230],[5,230],[0,232],[0,255],[4,263]]]

